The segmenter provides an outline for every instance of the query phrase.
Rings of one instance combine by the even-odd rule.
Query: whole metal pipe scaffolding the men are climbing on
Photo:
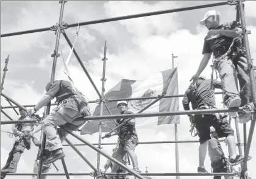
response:
[[[98,120],[99,121],[99,142],[97,144],[91,144],[90,142],[86,141],[84,138],[81,138],[79,135],[76,135],[76,133],[72,132],[71,130],[67,130],[66,128],[62,128],[63,130],[65,130],[66,132],[68,132],[70,135],[74,136],[74,138],[79,139],[79,141],[81,141],[83,144],[72,144],[68,139],[65,139],[65,141],[68,143],[68,145],[63,145],[63,146],[71,146],[79,156],[81,156],[81,158],[91,167],[91,169],[93,169],[93,172],[90,173],[68,173],[68,169],[66,167],[65,164],[65,160],[62,158],[62,164],[63,164],[63,169],[65,171],[65,173],[63,174],[52,174],[52,173],[46,173],[46,174],[42,174],[42,167],[43,167],[43,150],[45,147],[45,142],[46,142],[46,135],[41,132],[42,135],[42,145],[41,145],[41,150],[40,150],[40,164],[38,167],[38,174],[33,174],[33,173],[15,173],[15,174],[7,174],[7,175],[37,175],[37,178],[40,179],[42,175],[66,175],[66,178],[69,179],[69,176],[71,175],[90,175],[91,177],[94,178],[101,178],[102,176],[113,176],[113,175],[134,175],[136,178],[140,178],[143,179],[142,176],[176,176],[177,178],[179,178],[179,176],[216,176],[216,175],[221,175],[221,176],[235,176],[235,177],[240,177],[243,179],[247,178],[247,158],[249,155],[249,151],[251,148],[251,143],[252,143],[252,136],[254,133],[254,127],[255,127],[255,122],[256,122],[256,111],[255,111],[255,107],[256,107],[256,83],[255,83],[255,77],[254,77],[254,67],[252,65],[252,58],[251,58],[251,52],[249,49],[249,41],[248,41],[248,37],[247,37],[247,33],[249,33],[249,30],[246,30],[246,22],[245,22],[245,18],[244,18],[244,4],[243,4],[243,0],[237,0],[237,1],[224,1],[224,2],[218,2],[218,3],[213,3],[213,4],[206,4],[206,5],[197,5],[197,6],[192,6],[192,7],[184,7],[184,8],[179,8],[179,9],[171,9],[171,10],[162,10],[162,11],[157,11],[157,12],[149,12],[149,13],[140,13],[140,14],[136,14],[136,15],[127,15],[127,16],[119,16],[116,18],[106,18],[106,19],[99,19],[99,20],[95,20],[95,21],[87,21],[87,22],[83,22],[83,23],[74,23],[74,24],[66,24],[63,21],[63,12],[64,12],[64,6],[65,3],[67,1],[60,1],[61,7],[60,7],[60,16],[59,16],[59,23],[55,26],[51,26],[51,27],[46,27],[46,28],[41,28],[41,29],[34,29],[34,30],[25,30],[25,31],[21,31],[21,32],[12,32],[12,33],[5,33],[5,34],[1,34],[1,38],[2,37],[10,37],[10,36],[14,36],[14,35],[23,35],[23,34],[27,34],[27,33],[35,33],[35,32],[44,32],[44,31],[49,31],[52,30],[55,32],[55,34],[57,34],[56,37],[56,42],[55,42],[55,49],[54,49],[54,53],[52,54],[53,57],[53,64],[52,64],[52,72],[51,72],[51,82],[54,82],[54,78],[55,78],[55,68],[56,68],[56,64],[57,64],[57,57],[59,57],[58,51],[59,51],[59,39],[60,39],[60,35],[62,34],[66,41],[68,42],[69,46],[72,48],[73,44],[71,43],[71,41],[68,38],[68,35],[66,35],[65,33],[65,29],[68,29],[69,27],[77,27],[79,26],[86,26],[86,25],[90,25],[90,24],[99,24],[99,23],[107,23],[107,22],[111,22],[111,21],[119,21],[119,20],[123,20],[123,19],[132,19],[132,18],[141,18],[141,17],[145,17],[145,16],[154,16],[154,15],[162,15],[162,14],[166,14],[166,13],[173,13],[173,12],[182,12],[185,10],[194,10],[194,9],[202,9],[202,8],[206,8],[206,7],[215,7],[215,6],[219,6],[219,5],[235,5],[236,7],[236,21],[240,21],[241,19],[241,26],[243,29],[243,45],[246,49],[246,57],[247,57],[247,64],[248,64],[248,68],[247,70],[249,71],[249,75],[250,75],[250,82],[251,82],[251,90],[252,90],[252,102],[254,104],[254,107],[249,107],[249,106],[244,106],[244,107],[240,107],[240,108],[235,108],[235,109],[227,109],[227,108],[223,108],[223,109],[209,109],[209,110],[196,110],[196,111],[171,111],[171,112],[160,112],[160,113],[142,113],[144,110],[146,110],[147,108],[149,108],[151,105],[153,105],[155,102],[157,102],[157,100],[160,100],[162,98],[166,98],[166,97],[183,97],[183,95],[173,95],[173,96],[161,96],[161,97],[137,97],[137,98],[129,98],[129,99],[106,99],[104,98],[104,91],[105,91],[105,63],[107,61],[107,43],[105,41],[105,46],[104,46],[104,57],[102,58],[103,61],[103,72],[102,72],[102,88],[101,88],[101,93],[99,92],[99,90],[97,89],[96,85],[94,84],[93,80],[90,77],[90,74],[88,73],[87,69],[85,68],[84,64],[82,63],[82,60],[80,60],[79,55],[76,52],[76,49],[73,49],[73,53],[76,56],[77,60],[79,61],[80,66],[82,67],[82,69],[84,70],[85,74],[87,75],[88,79],[90,80],[91,85],[93,85],[94,90],[96,91],[96,93],[99,96],[99,99],[97,100],[92,100],[90,101],[90,103],[98,103],[101,106],[101,111],[100,111],[100,116],[89,116],[89,117],[85,117],[84,119],[80,119],[80,120]],[[172,60],[173,60],[174,56],[172,55]],[[9,56],[8,58],[9,59]],[[35,123],[37,121],[35,120],[26,120],[26,121],[15,121],[12,118],[10,118],[10,116],[8,116],[8,114],[6,114],[3,109],[6,108],[13,108],[13,110],[15,110],[15,108],[21,108],[22,110],[26,111],[25,107],[34,107],[35,105],[26,105],[23,106],[21,104],[18,104],[18,102],[16,102],[15,100],[11,99],[9,96],[7,96],[6,94],[2,93],[2,89],[3,88],[3,84],[4,84],[4,78],[5,78],[5,72],[7,71],[7,63],[8,60],[5,60],[5,68],[4,68],[4,76],[1,82],[1,96],[5,97],[5,99],[9,102],[10,106],[8,107],[2,107],[1,106],[1,112],[3,114],[5,114],[5,116],[7,116],[7,118],[9,118],[11,121],[1,121],[1,125],[4,124],[22,124],[22,123]],[[173,62],[172,62],[173,63]],[[222,94],[222,93],[215,93],[215,94]],[[151,104],[147,105],[145,108],[143,108],[139,113],[137,114],[115,114],[112,115],[110,110],[107,107],[107,102],[110,101],[119,101],[119,100],[143,100],[143,99],[155,99],[151,102]],[[16,106],[13,106],[12,103],[15,104]],[[47,107],[44,109],[44,116],[47,116],[50,112],[50,108],[51,105],[55,105],[55,104],[48,104]],[[102,112],[103,112],[103,108],[106,108],[108,113],[110,115],[107,116],[102,116]],[[160,174],[160,173],[143,173],[143,174],[138,174],[136,172],[134,172],[133,170],[129,169],[129,167],[125,166],[124,164],[120,163],[119,161],[115,160],[115,158],[113,158],[110,155],[107,155],[107,153],[102,152],[101,150],[101,146],[102,145],[113,145],[116,143],[102,143],[101,139],[104,138],[105,136],[109,136],[111,135],[112,132],[107,133],[105,136],[102,137],[102,121],[104,121],[105,119],[116,119],[116,118],[144,118],[144,117],[154,117],[154,116],[172,116],[172,115],[187,115],[187,114],[209,114],[209,113],[227,113],[227,112],[238,112],[238,111],[245,111],[246,113],[252,113],[253,114],[253,118],[251,121],[251,127],[249,129],[249,135],[248,138],[246,138],[246,124],[243,125],[243,132],[244,132],[244,144],[241,144],[241,139],[240,139],[240,132],[239,132],[239,128],[238,128],[238,120],[235,118],[235,127],[236,127],[236,138],[237,138],[237,144],[236,146],[238,146],[239,149],[239,153],[240,155],[243,153],[241,146],[244,146],[244,162],[241,163],[241,172],[240,171],[233,171],[231,173],[209,173],[209,174],[197,174],[197,173],[180,173],[179,172],[179,155],[178,155],[178,149],[176,146],[176,173],[164,173],[164,174]],[[16,112],[16,110],[15,110]],[[17,112],[16,112],[17,113]],[[17,113],[18,114],[18,113]],[[118,128],[118,126],[114,129],[116,130]],[[177,130],[177,128],[176,128]],[[177,131],[176,131],[177,133]],[[177,141],[177,137],[175,141],[152,141],[152,142],[139,142],[139,144],[160,144],[160,143],[184,143],[184,142],[198,142],[198,141]],[[96,152],[98,152],[98,158],[97,158],[97,165],[96,167],[94,167],[93,164],[90,163],[90,161],[87,160],[87,158],[82,155],[82,153],[80,153],[80,151],[76,148],[76,146],[82,146],[82,145],[86,145],[88,147],[90,147],[91,149],[95,150]],[[95,145],[97,147],[95,147]],[[108,158],[108,160],[112,161],[113,163],[118,164],[120,167],[123,167],[128,173],[104,173],[101,172],[101,170],[99,169],[99,165],[100,165],[100,156],[103,155],[106,158]]]

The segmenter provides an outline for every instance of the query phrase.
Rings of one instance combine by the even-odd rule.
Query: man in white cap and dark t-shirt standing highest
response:
[[[204,57],[196,74],[191,78],[193,84],[196,83],[213,54],[213,66],[217,69],[221,78],[224,104],[227,108],[251,105],[251,83],[249,71],[247,70],[246,53],[241,40],[237,39],[242,33],[241,24],[238,21],[220,24],[219,12],[216,10],[208,11],[204,19],[200,21],[200,24],[206,26],[209,31],[204,38],[202,50]],[[235,38],[236,40],[230,48]],[[240,92],[235,83],[236,74],[240,85]],[[229,114],[235,115],[236,112],[230,112]],[[251,113],[239,112],[238,115],[240,123],[246,123],[252,119]]]

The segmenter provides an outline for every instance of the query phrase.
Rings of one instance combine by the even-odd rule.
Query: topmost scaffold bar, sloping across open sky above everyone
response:
[[[83,23],[69,24],[68,28],[69,27],[77,27],[78,24],[79,24],[79,26],[86,26],[86,25],[91,25],[91,24],[108,23],[108,22],[120,21],[120,20],[124,20],[124,19],[142,18],[142,17],[146,17],[146,16],[162,15],[162,14],[166,14],[166,13],[182,12],[182,11],[186,11],[186,10],[202,9],[202,8],[215,7],[215,6],[227,5],[227,4],[228,4],[228,1],[225,1],[225,2],[217,2],[217,3],[213,3],[213,4],[196,5],[196,6],[191,6],[191,7],[182,7],[182,8],[177,8],[177,9],[160,10],[160,11],[156,11],[156,12],[119,16],[119,17],[115,17],[115,18],[98,19],[98,20],[87,21],[87,22],[83,22]],[[24,30],[24,31],[20,31],[20,32],[4,33],[4,34],[1,34],[1,37],[10,37],[10,36],[14,36],[14,35],[23,35],[23,34],[27,34],[27,33],[44,32],[44,31],[48,31],[48,30],[51,30],[51,27],[34,29],[34,30]]]

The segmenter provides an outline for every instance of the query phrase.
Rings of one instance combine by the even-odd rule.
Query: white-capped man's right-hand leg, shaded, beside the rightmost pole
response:
[[[250,104],[252,102],[252,91],[251,91],[251,82],[249,77],[249,70],[247,69],[247,60],[246,55],[239,55],[234,61],[234,65],[237,69],[237,77],[240,85],[240,97],[241,97],[241,107],[244,105]],[[250,113],[238,113],[239,122],[246,123],[252,119]]]

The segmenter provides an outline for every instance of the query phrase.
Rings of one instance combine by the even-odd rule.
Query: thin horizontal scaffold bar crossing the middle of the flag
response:
[[[223,92],[216,92],[215,94],[223,94]],[[171,97],[183,97],[184,94],[177,94],[177,95],[169,95],[164,96],[163,98],[171,98]],[[157,99],[157,96],[154,97],[130,97],[130,98],[119,98],[119,99],[105,99],[106,102],[113,102],[113,101],[120,101],[120,100],[146,100],[146,99]],[[89,103],[96,103],[98,100],[90,100]],[[51,104],[52,106],[57,104]],[[34,105],[23,105],[23,107],[34,107]],[[17,106],[7,106],[7,107],[1,107],[2,109],[9,109],[9,108],[18,108]]]

